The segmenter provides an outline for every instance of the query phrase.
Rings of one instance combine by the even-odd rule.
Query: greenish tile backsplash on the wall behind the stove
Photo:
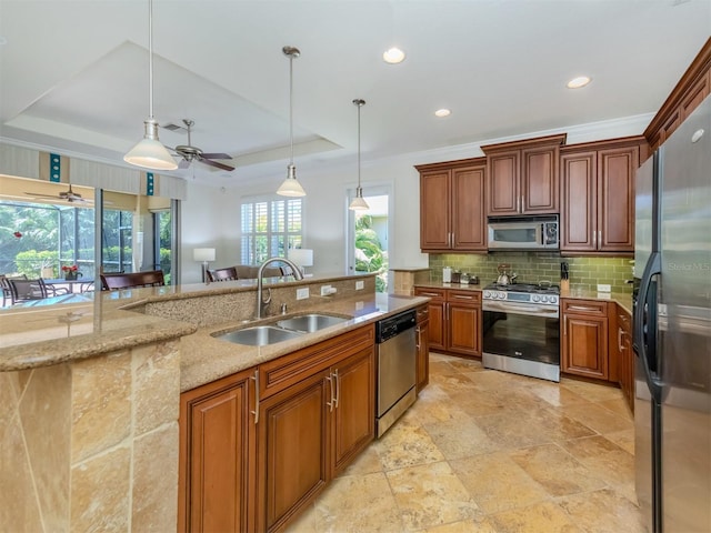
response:
[[[430,254],[431,281],[442,281],[442,269],[467,272],[479,276],[482,286],[497,281],[497,268],[501,263],[511,264],[511,272],[518,274],[518,282],[535,283],[548,280],[560,283],[560,263],[570,266],[570,286],[597,291],[598,283],[612,285],[612,292],[632,293],[633,261],[630,258],[569,258],[555,252],[494,252],[487,255],[465,253]],[[511,273],[509,272],[509,273]]]

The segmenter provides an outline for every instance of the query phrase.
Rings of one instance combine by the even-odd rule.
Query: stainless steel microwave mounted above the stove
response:
[[[490,217],[490,250],[558,250],[558,215]]]

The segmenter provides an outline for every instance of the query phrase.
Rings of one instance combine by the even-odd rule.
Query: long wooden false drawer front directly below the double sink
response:
[[[374,344],[375,326],[369,324],[262,363],[259,365],[260,398],[282,391]]]

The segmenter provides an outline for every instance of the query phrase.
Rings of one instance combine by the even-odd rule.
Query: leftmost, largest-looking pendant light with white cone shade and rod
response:
[[[178,163],[158,139],[158,122],[153,118],[153,0],[148,0],[148,119],[143,121],[144,133],[126,155],[127,163],[151,170],[176,170]]]

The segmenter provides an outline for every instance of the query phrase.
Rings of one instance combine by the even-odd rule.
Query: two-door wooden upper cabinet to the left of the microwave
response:
[[[422,251],[485,251],[484,159],[417,169]]]

